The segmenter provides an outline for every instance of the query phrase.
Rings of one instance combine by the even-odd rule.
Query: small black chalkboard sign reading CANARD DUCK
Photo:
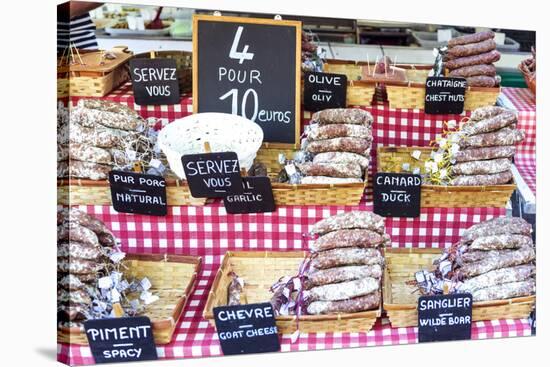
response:
[[[420,193],[422,178],[407,173],[384,173],[374,175],[374,212],[384,217],[420,216]]]

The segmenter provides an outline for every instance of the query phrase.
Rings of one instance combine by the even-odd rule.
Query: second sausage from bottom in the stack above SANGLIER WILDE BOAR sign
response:
[[[459,288],[460,292],[473,293],[476,290],[486,288],[488,284],[498,285],[527,280],[535,275],[535,265],[519,265],[511,268],[491,270],[485,274],[466,279]]]

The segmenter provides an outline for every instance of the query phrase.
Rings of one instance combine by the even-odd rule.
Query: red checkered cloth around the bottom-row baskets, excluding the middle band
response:
[[[221,356],[221,347],[215,329],[202,318],[207,295],[214,281],[219,260],[205,264],[197,279],[197,287],[189,298],[170,344],[157,346],[161,359]],[[527,320],[481,321],[472,325],[472,339],[489,339],[531,335]],[[378,321],[367,333],[302,334],[294,343],[290,335],[281,337],[281,351],[306,351],[366,346],[416,343],[417,328],[392,328],[387,319]],[[93,364],[89,347],[58,344],[58,360],[71,365]]]

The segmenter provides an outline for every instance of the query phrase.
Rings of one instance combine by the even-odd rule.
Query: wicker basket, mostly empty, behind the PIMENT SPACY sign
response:
[[[149,306],[141,316],[151,319],[155,344],[168,344],[183,314],[201,267],[201,258],[173,255],[127,255],[124,274],[129,278],[147,277],[151,292],[160,299]],[[59,328],[59,343],[87,345],[86,334],[79,328]]]

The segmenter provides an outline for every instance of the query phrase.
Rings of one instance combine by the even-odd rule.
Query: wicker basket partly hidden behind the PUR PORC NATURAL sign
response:
[[[111,188],[108,180],[58,179],[58,204],[63,205],[111,205]],[[178,179],[166,180],[166,202],[168,205],[206,204],[205,198],[191,196],[189,186]]]

